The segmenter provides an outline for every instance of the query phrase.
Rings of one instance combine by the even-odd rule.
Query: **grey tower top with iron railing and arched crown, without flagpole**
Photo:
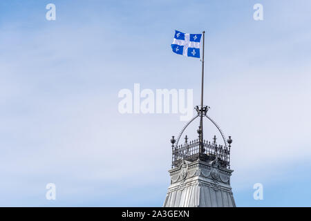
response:
[[[222,207],[236,206],[230,186],[230,148],[232,139],[226,139],[223,131],[207,115],[209,107],[196,106],[197,115],[182,128],[175,139],[171,138],[172,167],[169,170],[171,185],[165,198],[164,207]],[[198,127],[198,139],[180,143],[180,137],[187,126],[197,117],[201,123]],[[207,117],[216,126],[223,138],[223,145],[203,140],[202,117]]]

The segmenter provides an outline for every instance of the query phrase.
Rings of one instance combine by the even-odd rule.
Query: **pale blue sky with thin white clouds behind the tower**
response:
[[[46,5],[56,21],[46,20]],[[264,20],[253,6],[263,4]],[[175,29],[205,30],[205,104],[232,135],[237,206],[311,206],[310,1],[1,1],[0,206],[162,206],[178,114],[122,88],[193,88]],[[209,131],[210,130],[210,131]],[[205,135],[214,131],[207,126]],[[57,200],[46,200],[46,184]],[[264,200],[252,198],[263,184]]]

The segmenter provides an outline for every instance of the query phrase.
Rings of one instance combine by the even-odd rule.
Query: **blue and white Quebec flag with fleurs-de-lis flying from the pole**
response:
[[[175,30],[171,49],[178,55],[200,58],[200,41],[202,34],[187,34]]]

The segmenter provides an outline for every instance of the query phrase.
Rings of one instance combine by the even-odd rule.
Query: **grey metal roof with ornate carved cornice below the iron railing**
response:
[[[164,207],[223,207],[236,206],[230,186],[232,170],[211,162],[183,161],[169,171],[171,185]]]

